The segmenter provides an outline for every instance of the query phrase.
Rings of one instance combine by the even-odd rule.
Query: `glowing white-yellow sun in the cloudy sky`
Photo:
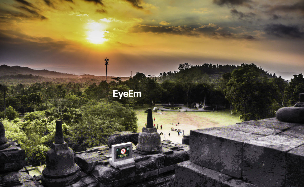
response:
[[[102,23],[91,22],[87,23],[87,40],[90,43],[102,44],[107,41],[105,38],[105,33],[109,33],[105,30],[105,25]]]

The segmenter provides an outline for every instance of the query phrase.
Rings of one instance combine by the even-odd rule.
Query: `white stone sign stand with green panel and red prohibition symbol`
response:
[[[109,160],[115,168],[133,165],[132,142],[112,145],[112,158],[109,158]]]

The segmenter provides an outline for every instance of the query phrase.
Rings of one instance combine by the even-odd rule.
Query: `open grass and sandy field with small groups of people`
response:
[[[153,108],[153,107],[151,107]],[[134,109],[136,116],[138,118],[137,132],[141,132],[142,128],[145,127],[147,121],[147,107],[142,109]],[[160,111],[160,110],[158,110]],[[190,130],[210,128],[210,127],[222,127],[226,125],[232,125],[240,122],[239,116],[231,115],[230,110],[215,111],[215,112],[164,112],[162,114],[152,112],[153,118],[155,117],[155,127],[158,124],[158,133],[163,132],[165,134],[166,140],[181,142],[182,136],[178,136],[176,131],[171,131],[171,127],[181,129],[185,131],[185,134],[189,134]],[[176,123],[180,123],[176,126]],[[174,125],[171,125],[173,123]],[[161,126],[162,125],[162,130]],[[169,132],[170,137],[169,137]],[[164,140],[164,135],[161,135],[161,140]]]

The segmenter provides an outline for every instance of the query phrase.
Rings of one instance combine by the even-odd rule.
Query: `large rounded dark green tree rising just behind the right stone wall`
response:
[[[255,64],[242,64],[232,72],[224,90],[225,97],[243,121],[273,117],[278,109],[278,87]]]

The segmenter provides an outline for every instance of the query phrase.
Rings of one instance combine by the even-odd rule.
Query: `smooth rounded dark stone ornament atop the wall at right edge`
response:
[[[299,94],[299,102],[293,107],[280,108],[276,118],[286,122],[304,123],[304,93]]]

